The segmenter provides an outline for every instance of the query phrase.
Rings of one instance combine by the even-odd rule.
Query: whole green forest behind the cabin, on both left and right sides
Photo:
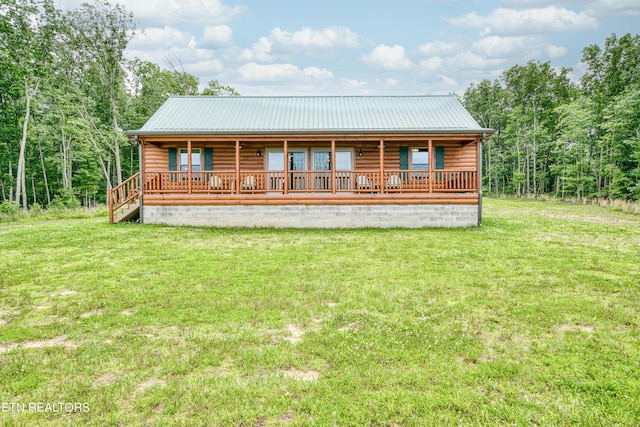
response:
[[[239,95],[216,80],[201,90],[180,58],[127,59],[139,32],[120,5],[3,0],[0,203],[104,203],[138,170],[124,130],[172,95]],[[640,199],[640,36],[612,34],[582,53],[579,83],[570,69],[530,61],[464,92],[478,123],[496,130],[484,145],[485,194]]]

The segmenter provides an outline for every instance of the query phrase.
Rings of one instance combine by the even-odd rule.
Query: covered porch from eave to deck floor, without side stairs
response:
[[[151,159],[142,174],[147,195],[236,195],[256,199],[260,197],[252,196],[383,196],[478,189],[476,141],[459,137],[447,141],[226,143],[188,139],[182,144],[151,142],[143,150],[145,157]]]

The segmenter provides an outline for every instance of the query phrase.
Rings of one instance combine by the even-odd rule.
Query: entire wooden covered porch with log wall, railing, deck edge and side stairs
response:
[[[394,138],[145,138],[127,208],[229,205],[478,205],[477,135]],[[284,153],[287,153],[285,156]],[[395,209],[398,211],[398,208]]]

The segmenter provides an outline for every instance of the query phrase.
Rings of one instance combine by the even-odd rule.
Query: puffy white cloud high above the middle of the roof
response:
[[[334,26],[321,30],[303,28],[294,33],[274,28],[270,34],[271,40],[282,47],[305,49],[354,49],[360,45],[358,35],[349,28]]]

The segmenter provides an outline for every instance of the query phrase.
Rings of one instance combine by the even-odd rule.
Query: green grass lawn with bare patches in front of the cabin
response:
[[[640,217],[593,206],[0,223],[2,425],[640,425],[639,326]]]

